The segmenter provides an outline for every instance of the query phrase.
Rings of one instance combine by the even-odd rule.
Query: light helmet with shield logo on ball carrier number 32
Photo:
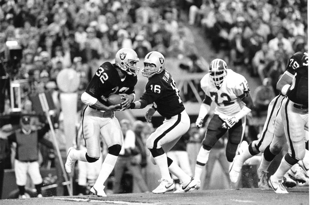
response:
[[[129,75],[137,75],[140,68],[131,65],[133,62],[139,62],[137,53],[131,48],[121,48],[115,55],[115,65],[126,71]]]

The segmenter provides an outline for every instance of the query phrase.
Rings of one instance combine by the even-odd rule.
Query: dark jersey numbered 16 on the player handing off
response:
[[[165,69],[148,80],[141,99],[147,105],[153,103],[161,116],[170,118],[185,109],[179,92],[171,74]]]

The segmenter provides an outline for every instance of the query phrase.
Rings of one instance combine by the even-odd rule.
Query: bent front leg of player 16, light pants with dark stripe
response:
[[[164,123],[148,137],[146,146],[150,150],[155,163],[159,167],[162,177],[160,180],[161,184],[153,190],[153,193],[164,193],[174,189],[175,185],[170,177],[168,169],[168,166],[171,166],[172,164],[172,160],[169,158],[171,161],[168,164],[166,152],[175,145],[181,135],[187,132],[189,124],[189,117],[186,112],[183,111],[178,116],[174,116],[171,119],[164,121]],[[177,168],[176,171],[180,171],[180,168],[176,163],[174,163],[172,167]],[[174,171],[173,174],[178,177],[179,173]]]

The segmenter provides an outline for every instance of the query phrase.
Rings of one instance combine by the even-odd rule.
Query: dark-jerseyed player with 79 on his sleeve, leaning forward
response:
[[[273,139],[273,127],[277,115],[277,110],[279,109],[281,102],[284,99],[284,95],[286,94],[288,87],[292,83],[296,68],[299,67],[302,63],[304,55],[306,55],[306,53],[296,52],[290,57],[288,65],[286,66],[286,71],[277,82],[277,89],[279,91],[281,90],[281,93],[279,93],[279,95],[273,98],[272,101],[269,103],[266,122],[264,124],[259,139],[251,142],[248,147],[242,146],[242,152],[240,152],[240,154],[236,155],[236,157],[234,158],[232,167],[229,170],[230,180],[233,183],[237,182],[242,165],[244,162],[246,162],[246,160],[259,153],[264,153],[264,157],[269,160],[270,157],[268,157],[267,155],[269,155],[270,153],[269,144]],[[270,163],[268,164],[268,166],[270,165]],[[265,162],[263,162],[263,164],[265,164]],[[259,189],[262,190],[269,189],[267,181],[268,166],[260,166],[257,170],[257,174],[259,177],[258,186]],[[283,180],[285,181],[284,185],[286,185],[287,187],[293,187],[296,185],[296,182],[294,180],[291,180],[288,175],[285,175],[285,179],[283,178]]]

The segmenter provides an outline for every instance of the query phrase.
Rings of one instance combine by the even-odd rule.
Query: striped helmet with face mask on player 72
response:
[[[222,59],[214,59],[209,68],[210,78],[215,86],[221,87],[227,75],[227,64]]]

